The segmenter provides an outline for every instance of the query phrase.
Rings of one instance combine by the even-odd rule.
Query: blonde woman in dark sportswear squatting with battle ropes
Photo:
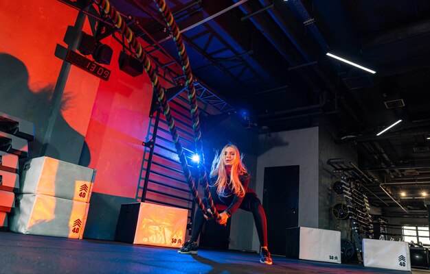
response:
[[[226,145],[220,155],[215,155],[210,177],[210,192],[214,204],[228,206],[224,212],[220,212],[220,219],[217,222],[220,225],[225,225],[229,217],[238,208],[252,212],[261,245],[260,262],[272,264],[270,252],[267,249],[266,214],[264,214],[264,209],[256,192],[248,187],[250,176],[235,145]],[[199,238],[205,219],[207,219],[207,216],[203,215],[201,210],[197,210],[191,238],[188,242],[185,242],[178,253],[197,253],[196,240]]]

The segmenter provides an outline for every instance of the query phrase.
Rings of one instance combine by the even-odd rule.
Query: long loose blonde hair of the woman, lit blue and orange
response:
[[[230,182],[227,182],[227,171],[225,169],[225,158],[223,157],[228,147],[234,149],[234,161],[231,163],[230,171]],[[213,186],[216,186],[216,192],[220,197],[227,197],[229,194],[225,193],[227,184],[231,185],[231,191],[238,197],[245,196],[245,188],[243,188],[240,182],[239,176],[247,175],[248,171],[245,165],[242,163],[243,155],[240,155],[238,147],[236,145],[228,144],[223,147],[223,150],[218,155],[218,151],[215,153],[214,162],[212,162],[212,170],[210,172],[211,177],[216,177],[216,182]]]

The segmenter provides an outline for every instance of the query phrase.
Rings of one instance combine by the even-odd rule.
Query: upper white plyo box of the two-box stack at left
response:
[[[95,170],[46,156],[25,163],[21,193],[89,202]]]

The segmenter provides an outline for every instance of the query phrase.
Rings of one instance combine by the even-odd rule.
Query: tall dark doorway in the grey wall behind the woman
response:
[[[299,166],[264,168],[263,208],[269,250],[284,256],[285,229],[297,227],[299,223]]]

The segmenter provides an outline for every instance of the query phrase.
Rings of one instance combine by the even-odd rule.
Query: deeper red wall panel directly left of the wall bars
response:
[[[105,42],[105,41],[104,41]],[[136,197],[148,132],[152,85],[148,75],[131,77],[120,71],[121,47],[113,41],[109,82],[100,82],[85,141],[91,152],[89,167],[97,169],[93,191]]]

